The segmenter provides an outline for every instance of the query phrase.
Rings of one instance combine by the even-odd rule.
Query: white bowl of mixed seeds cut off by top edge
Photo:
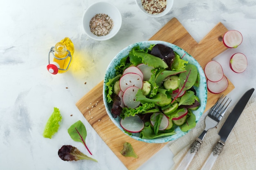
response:
[[[135,0],[139,9],[150,17],[162,17],[171,11],[173,0]]]

